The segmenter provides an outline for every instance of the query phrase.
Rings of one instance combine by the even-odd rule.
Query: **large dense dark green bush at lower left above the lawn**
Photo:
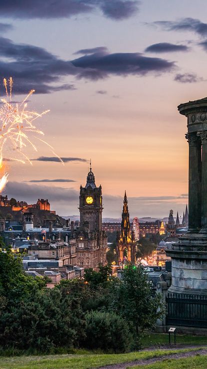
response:
[[[4,302],[5,304],[5,302]],[[37,291],[0,311],[3,346],[48,351],[51,347],[77,347],[84,339],[85,318],[79,302],[61,290]]]

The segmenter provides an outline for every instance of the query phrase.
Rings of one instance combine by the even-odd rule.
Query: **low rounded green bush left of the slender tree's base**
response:
[[[132,335],[124,319],[115,313],[90,311],[86,313],[86,338],[83,346],[89,349],[126,352],[132,345]]]

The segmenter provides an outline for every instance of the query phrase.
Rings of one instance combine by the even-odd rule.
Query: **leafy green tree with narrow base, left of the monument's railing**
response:
[[[161,296],[152,295],[146,273],[132,265],[123,270],[121,280],[111,290],[109,308],[128,322],[135,348],[144,330],[151,329],[164,312]]]

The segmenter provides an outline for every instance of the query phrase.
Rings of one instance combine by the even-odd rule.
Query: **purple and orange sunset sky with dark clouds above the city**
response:
[[[188,192],[181,102],[207,96],[205,0],[7,0],[0,2],[0,93],[29,108],[48,145],[35,141],[22,164],[5,161],[2,194],[46,198],[77,215],[91,158],[103,217],[182,214]],[[3,156],[16,155],[6,145]]]

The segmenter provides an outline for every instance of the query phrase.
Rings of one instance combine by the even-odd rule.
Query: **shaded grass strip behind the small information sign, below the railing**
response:
[[[173,344],[173,335],[171,334],[171,342]],[[176,343],[192,344],[192,345],[204,345],[207,344],[207,336],[191,336],[191,335],[177,335]],[[160,346],[168,344],[168,334],[166,333],[151,333],[149,336],[145,336],[141,339],[142,347]]]

